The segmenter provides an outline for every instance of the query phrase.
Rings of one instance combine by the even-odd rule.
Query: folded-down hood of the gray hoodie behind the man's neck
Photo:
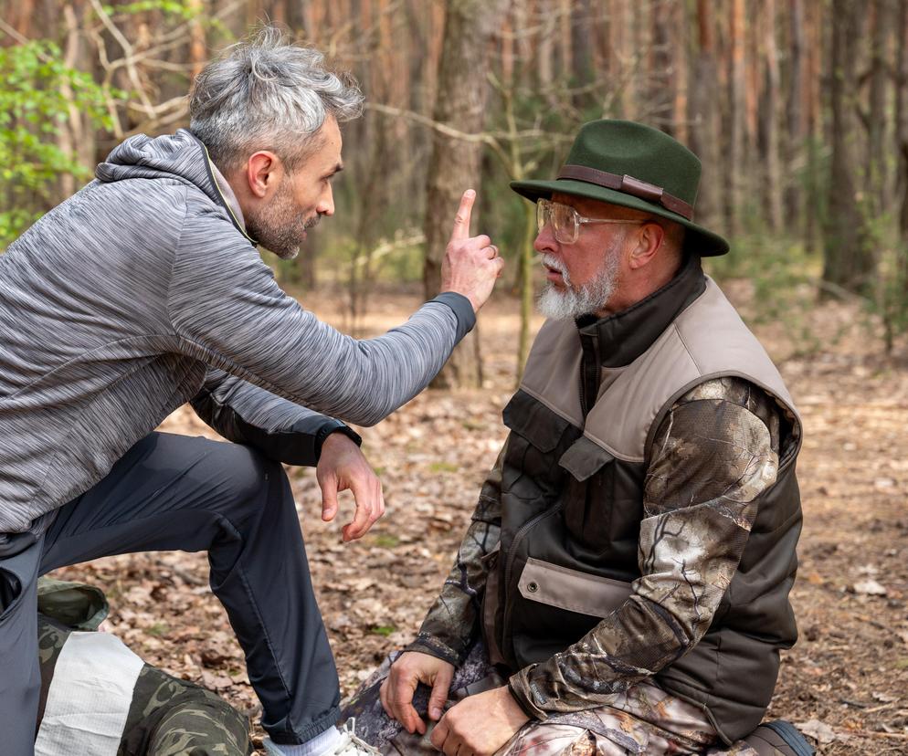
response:
[[[179,129],[157,137],[136,134],[113,148],[107,160],[98,164],[95,177],[105,184],[127,179],[168,179],[191,184],[223,207],[238,231],[257,243],[246,232],[230,185],[211,162],[205,145],[191,131]]]

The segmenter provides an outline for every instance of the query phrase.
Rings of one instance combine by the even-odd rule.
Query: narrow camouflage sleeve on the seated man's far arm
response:
[[[506,448],[507,442],[480,489],[479,503],[441,593],[406,651],[422,651],[459,667],[470,650],[479,629],[488,571],[483,558],[494,551],[502,531],[502,460]]]

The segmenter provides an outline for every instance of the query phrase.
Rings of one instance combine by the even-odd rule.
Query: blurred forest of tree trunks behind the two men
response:
[[[697,152],[696,217],[732,239],[756,318],[854,299],[892,350],[908,330],[908,0],[0,0],[0,249],[113,145],[187,125],[216,52],[273,23],[352,70],[338,212],[282,282],[343,283],[356,331],[376,282],[426,281],[460,192],[513,263],[523,362],[532,207],[584,121],[647,122]],[[478,341],[449,383],[480,383]]]

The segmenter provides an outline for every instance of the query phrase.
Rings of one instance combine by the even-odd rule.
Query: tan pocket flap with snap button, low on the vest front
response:
[[[517,583],[523,598],[578,614],[607,617],[633,593],[630,583],[530,557]]]

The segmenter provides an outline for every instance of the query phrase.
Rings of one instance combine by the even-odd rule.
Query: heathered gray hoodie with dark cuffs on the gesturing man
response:
[[[185,402],[313,464],[342,425],[313,410],[375,424],[472,327],[449,292],[379,338],[334,331],[278,287],[216,174],[189,131],[132,137],[0,256],[0,534],[39,532]]]

